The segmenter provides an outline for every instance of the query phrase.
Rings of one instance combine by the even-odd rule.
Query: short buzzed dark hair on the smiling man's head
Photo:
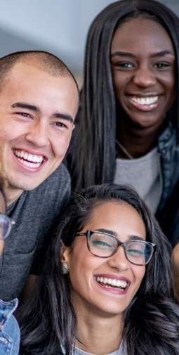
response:
[[[48,74],[53,77],[72,77],[79,91],[77,81],[67,65],[58,57],[45,51],[20,51],[0,58],[0,85],[8,77],[9,72],[11,72],[11,69],[17,63],[34,65],[40,70],[48,72]]]

